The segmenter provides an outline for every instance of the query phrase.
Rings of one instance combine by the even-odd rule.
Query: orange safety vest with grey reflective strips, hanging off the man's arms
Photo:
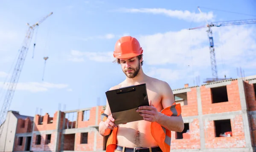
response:
[[[168,116],[179,116],[181,114],[180,104],[172,104],[170,107],[164,108],[161,113]],[[102,121],[107,120],[108,115],[101,113]],[[116,149],[116,133],[117,127],[112,130],[111,135],[108,137],[106,152],[114,152]],[[161,126],[157,122],[151,122],[151,135],[157,142],[158,146],[163,152],[170,152],[171,150],[171,131]]]

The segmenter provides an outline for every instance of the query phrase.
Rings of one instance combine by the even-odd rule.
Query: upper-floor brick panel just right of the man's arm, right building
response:
[[[187,105],[181,107],[182,116],[198,115],[198,104],[197,104],[197,91],[196,88],[191,88],[190,92],[187,92]]]

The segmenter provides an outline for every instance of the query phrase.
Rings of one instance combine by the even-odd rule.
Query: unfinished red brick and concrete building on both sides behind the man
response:
[[[253,152],[256,146],[256,75],[173,90],[182,105],[183,132],[172,132],[172,152]],[[98,132],[104,106],[56,111],[53,117],[9,111],[0,152],[105,151]],[[68,114],[77,116],[72,121]],[[89,115],[89,117],[87,117]],[[70,121],[71,120],[71,121]]]

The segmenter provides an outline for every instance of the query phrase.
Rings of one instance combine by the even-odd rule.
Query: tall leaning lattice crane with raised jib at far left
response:
[[[34,30],[35,30],[35,28],[38,27],[38,25],[40,25],[44,20],[46,20],[47,17],[49,17],[50,15],[52,15],[52,12],[50,14],[48,14],[47,16],[45,16],[43,19],[41,19],[39,22],[35,23],[34,25],[30,26],[28,23],[26,24],[29,26],[29,29],[26,32],[25,39],[23,40],[22,47],[20,48],[19,56],[18,56],[16,65],[15,65],[15,68],[12,72],[12,77],[8,84],[7,93],[3,100],[3,106],[2,106],[2,109],[0,112],[0,137],[1,137],[2,131],[3,131],[2,124],[6,120],[7,111],[9,110],[9,107],[11,105],[12,98],[14,96],[15,89],[17,86],[17,82],[20,78],[20,73],[21,73],[24,61],[26,59],[27,51],[29,50],[29,45],[30,45],[30,42],[31,42],[33,34],[34,34]]]

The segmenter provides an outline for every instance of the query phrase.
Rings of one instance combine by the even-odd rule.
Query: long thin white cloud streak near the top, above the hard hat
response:
[[[194,22],[204,22],[205,19],[213,20],[214,18],[214,15],[211,11],[208,13],[200,13],[199,11],[198,13],[192,13],[190,11],[168,10],[165,8],[120,8],[117,11],[128,13],[164,14],[168,17]]]

